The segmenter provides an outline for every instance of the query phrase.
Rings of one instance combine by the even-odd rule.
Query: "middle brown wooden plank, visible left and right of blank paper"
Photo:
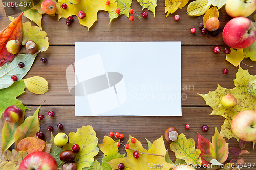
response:
[[[215,54],[212,46],[182,47],[182,105],[205,106],[205,101],[197,93],[206,94],[214,91],[217,84],[225,88],[234,88],[233,79],[236,78],[237,67],[225,60],[224,48]],[[170,53],[171,54],[171,53]],[[50,46],[46,52],[40,53],[25,78],[42,76],[49,82],[49,91],[43,95],[36,95],[26,89],[26,93],[19,97],[25,105],[74,106],[74,96],[69,94],[66,81],[66,68],[74,60],[74,46]],[[48,61],[41,63],[46,57]],[[168,57],[168,56],[166,56]],[[170,56],[171,57],[171,56]],[[246,58],[244,63],[256,66],[255,62]],[[241,64],[251,75],[256,75],[254,68]],[[223,75],[223,69],[229,73]]]

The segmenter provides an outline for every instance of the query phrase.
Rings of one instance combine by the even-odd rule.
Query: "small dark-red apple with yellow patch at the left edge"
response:
[[[22,109],[15,105],[9,106],[5,109],[3,117],[6,122],[18,122],[22,118]]]

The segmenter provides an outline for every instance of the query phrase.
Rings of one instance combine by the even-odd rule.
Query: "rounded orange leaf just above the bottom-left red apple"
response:
[[[28,154],[35,151],[42,151],[45,148],[46,142],[36,137],[27,137],[17,145],[17,151],[27,151]]]

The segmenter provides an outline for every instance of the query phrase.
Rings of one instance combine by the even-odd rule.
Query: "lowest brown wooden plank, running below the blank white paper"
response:
[[[25,117],[33,115],[38,106],[29,106],[31,110],[27,110]],[[53,110],[55,116],[50,118],[47,116],[47,112]],[[218,131],[221,130],[221,125],[224,122],[224,118],[221,116],[209,115],[212,109],[210,107],[183,107],[182,117],[144,117],[144,116],[75,116],[74,107],[56,107],[56,106],[42,106],[39,114],[45,116],[44,120],[40,122],[41,131],[44,133],[45,140],[50,142],[51,133],[47,130],[49,125],[52,125],[53,135],[55,136],[59,132],[64,132],[69,134],[70,132],[76,132],[77,128],[82,126],[91,125],[96,132],[96,136],[99,138],[99,144],[102,143],[105,135],[108,132],[119,132],[124,134],[124,141],[126,142],[131,136],[136,137],[142,142],[143,146],[147,148],[148,139],[151,142],[164,135],[167,128],[173,126],[179,130],[179,133],[184,133],[188,138],[193,138],[195,140],[195,145],[197,146],[197,134],[199,132],[203,137],[208,140],[212,140],[212,135],[214,135],[215,126]],[[58,123],[63,124],[63,129],[57,129],[56,125]],[[4,120],[0,119],[0,127],[2,128]],[[185,129],[185,124],[190,124],[190,129]],[[201,130],[202,125],[208,125],[209,131],[203,132]],[[2,135],[2,134],[1,134]],[[238,147],[238,142],[232,138],[230,140],[225,139],[229,143],[229,147]],[[124,142],[124,143],[125,143]],[[169,143],[165,141],[165,147],[169,147]],[[2,147],[2,140],[0,142],[0,147]],[[242,156],[246,163],[253,163],[255,161],[256,152],[253,150],[252,142],[248,142],[246,145],[246,150],[250,152],[249,155]],[[120,152],[125,153],[124,149],[120,147]],[[175,156],[172,151],[169,152],[171,159],[175,161]],[[96,157],[98,160],[102,158],[102,153],[100,152]],[[237,158],[229,153],[227,162],[231,159]],[[100,162],[100,161],[99,161]]]

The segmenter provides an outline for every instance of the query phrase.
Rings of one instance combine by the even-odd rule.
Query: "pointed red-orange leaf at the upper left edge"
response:
[[[18,54],[11,54],[6,50],[9,40],[18,40],[22,43],[22,14],[15,18],[8,27],[0,31],[0,67],[7,62],[12,62]]]

